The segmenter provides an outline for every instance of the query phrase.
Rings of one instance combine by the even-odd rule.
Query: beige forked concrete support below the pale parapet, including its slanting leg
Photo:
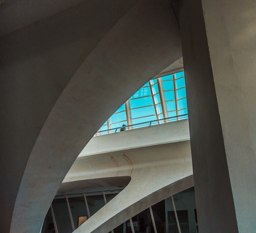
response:
[[[114,176],[130,176],[131,181],[75,233],[110,232],[149,206],[191,188],[193,169],[190,142],[180,141],[80,157],[66,180]]]

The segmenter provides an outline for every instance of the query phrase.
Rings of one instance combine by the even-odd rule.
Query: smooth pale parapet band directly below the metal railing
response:
[[[92,137],[78,157],[189,140],[188,119]]]

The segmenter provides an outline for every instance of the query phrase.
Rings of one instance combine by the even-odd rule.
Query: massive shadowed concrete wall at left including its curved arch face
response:
[[[93,134],[181,57],[168,1],[136,2],[86,1],[0,38],[3,231],[39,231]]]

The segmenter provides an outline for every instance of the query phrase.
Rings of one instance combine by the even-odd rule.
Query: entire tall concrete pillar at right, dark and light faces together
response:
[[[180,2],[199,232],[256,229],[256,2]]]

